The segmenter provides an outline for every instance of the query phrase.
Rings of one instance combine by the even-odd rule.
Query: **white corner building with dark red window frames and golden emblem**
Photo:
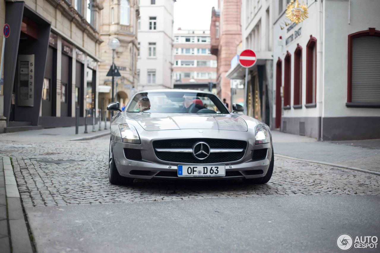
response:
[[[274,10],[274,127],[319,140],[380,138],[378,2],[308,1],[299,24],[286,7]]]

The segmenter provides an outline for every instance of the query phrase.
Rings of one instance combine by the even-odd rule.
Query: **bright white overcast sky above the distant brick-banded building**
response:
[[[210,30],[211,9],[218,8],[218,0],[177,0],[174,3],[174,32]]]

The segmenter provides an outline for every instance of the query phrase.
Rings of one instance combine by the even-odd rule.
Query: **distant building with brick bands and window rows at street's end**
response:
[[[211,87],[212,90],[216,81],[217,57],[210,51],[210,31],[179,28],[174,34],[173,54],[175,85],[201,90]]]

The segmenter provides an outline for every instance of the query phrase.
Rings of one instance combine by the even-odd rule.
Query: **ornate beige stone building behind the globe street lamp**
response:
[[[114,77],[114,100],[124,106],[134,90],[138,89],[137,75],[137,26],[139,18],[138,0],[105,0],[100,19],[100,55],[99,64],[99,108],[105,110],[112,100],[112,77],[107,76],[112,66],[112,50],[108,43],[112,38],[120,41],[120,47],[114,55],[114,63],[120,77]]]

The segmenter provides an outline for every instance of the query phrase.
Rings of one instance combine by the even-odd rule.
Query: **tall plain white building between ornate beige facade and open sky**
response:
[[[176,0],[140,0],[138,89],[171,89],[173,11]]]

